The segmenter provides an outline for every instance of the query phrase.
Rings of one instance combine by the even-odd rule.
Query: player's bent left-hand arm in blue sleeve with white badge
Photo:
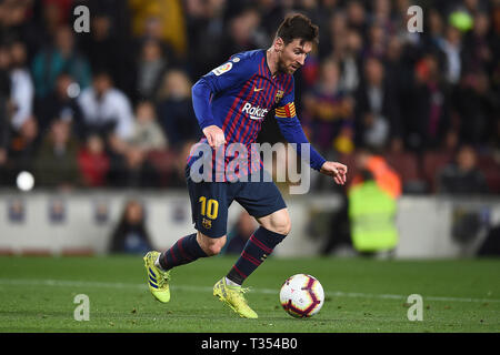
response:
[[[248,63],[247,60],[234,60],[234,58],[238,57],[232,57],[231,60],[213,69],[192,87],[194,114],[211,148],[226,143],[222,123],[212,113],[212,97],[242,84],[249,78],[251,63]]]

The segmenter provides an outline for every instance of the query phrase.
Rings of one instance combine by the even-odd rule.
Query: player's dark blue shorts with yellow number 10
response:
[[[262,170],[261,178],[263,174],[268,173]],[[257,219],[287,207],[278,186],[269,180],[196,183],[190,178],[189,166],[186,180],[194,229],[213,239],[227,234],[228,210],[234,200]]]

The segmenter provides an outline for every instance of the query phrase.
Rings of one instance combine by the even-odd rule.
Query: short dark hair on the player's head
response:
[[[301,42],[318,43],[318,26],[312,23],[311,20],[302,13],[287,16],[276,32],[276,37],[281,38],[284,45],[296,39],[300,39]]]

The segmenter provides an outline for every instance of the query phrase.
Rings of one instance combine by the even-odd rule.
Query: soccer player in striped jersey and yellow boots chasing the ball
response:
[[[301,143],[309,142],[296,115],[293,73],[304,64],[317,42],[318,27],[303,14],[291,14],[280,24],[271,48],[234,54],[193,85],[194,113],[204,134],[196,145],[210,146],[212,156],[209,160],[214,162],[213,169],[220,164],[228,166],[227,158],[222,163],[216,159],[220,148],[240,143],[251,150],[266,113],[273,109],[283,136],[298,144],[297,152],[301,155]],[[313,148],[306,146],[310,148],[312,169],[332,176],[337,184],[346,183],[346,165],[326,161]],[[249,155],[249,159],[254,158]],[[234,181],[223,176],[222,181],[194,181],[191,168],[198,159],[202,158],[194,146],[188,158],[187,184],[197,232],[181,237],[161,254],[151,251],[143,257],[149,290],[160,302],[169,302],[173,267],[221,251],[227,240],[228,209],[237,201],[260,226],[229,273],[216,283],[213,295],[241,317],[257,318],[243,296],[247,288],[241,285],[290,233],[287,205],[276,184],[269,180]],[[256,171],[263,176],[261,163],[251,163],[248,170],[240,169],[238,176]]]

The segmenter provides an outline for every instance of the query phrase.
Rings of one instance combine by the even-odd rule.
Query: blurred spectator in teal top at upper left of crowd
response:
[[[54,43],[42,49],[33,59],[32,74],[36,97],[46,98],[56,85],[56,79],[62,72],[74,78],[83,90],[91,81],[88,60],[80,54],[74,43],[74,34],[69,26],[61,26],[54,33]]]

